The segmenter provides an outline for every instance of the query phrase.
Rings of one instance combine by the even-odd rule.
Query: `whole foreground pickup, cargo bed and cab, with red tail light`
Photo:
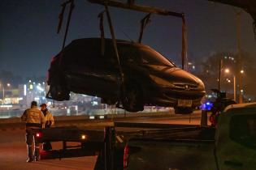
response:
[[[212,128],[214,134],[206,138]],[[131,138],[124,149],[124,169],[256,169],[256,103],[229,105],[215,127],[184,128],[179,134],[182,138],[173,132]]]

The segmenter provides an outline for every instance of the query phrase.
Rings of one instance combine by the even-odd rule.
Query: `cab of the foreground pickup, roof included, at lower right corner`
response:
[[[256,169],[256,103],[229,105],[215,133],[219,169]]]

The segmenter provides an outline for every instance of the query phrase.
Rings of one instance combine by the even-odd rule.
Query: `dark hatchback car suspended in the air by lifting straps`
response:
[[[111,39],[103,44],[100,38],[73,40],[50,64],[47,97],[69,100],[73,91],[101,97],[102,103],[129,112],[158,105],[191,113],[201,104],[205,87],[193,74],[146,45],[117,40],[117,49],[119,62]]]

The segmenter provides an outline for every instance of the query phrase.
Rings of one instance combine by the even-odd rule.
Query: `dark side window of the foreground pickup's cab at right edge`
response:
[[[256,115],[234,115],[229,136],[233,141],[256,150]]]

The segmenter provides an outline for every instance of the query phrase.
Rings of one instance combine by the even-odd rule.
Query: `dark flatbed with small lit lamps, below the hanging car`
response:
[[[155,140],[191,139],[214,140],[215,128],[200,125],[169,125],[152,123],[115,122],[104,129],[88,130],[76,126],[54,127],[36,132],[38,142],[63,142],[60,150],[41,151],[41,159],[62,159],[98,155],[94,169],[123,168],[124,147],[129,139]],[[68,146],[76,142],[77,145]],[[115,164],[115,166],[113,166]],[[113,169],[113,168],[112,168]]]

